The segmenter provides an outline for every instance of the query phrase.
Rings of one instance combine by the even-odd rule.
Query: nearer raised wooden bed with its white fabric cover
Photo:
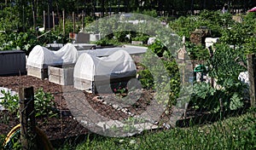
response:
[[[136,74],[136,65],[125,50],[101,58],[84,53],[79,56],[74,68],[74,88],[92,93],[110,93],[113,91],[110,84],[127,83],[136,78]]]

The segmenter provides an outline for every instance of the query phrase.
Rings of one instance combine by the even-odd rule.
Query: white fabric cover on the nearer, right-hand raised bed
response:
[[[84,53],[74,67],[74,78],[94,81],[96,76],[124,78],[136,72],[136,65],[125,50],[118,50],[108,57],[96,57]]]

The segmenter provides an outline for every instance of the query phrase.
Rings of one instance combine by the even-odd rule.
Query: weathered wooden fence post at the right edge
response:
[[[255,77],[256,77],[256,64],[255,64],[255,54],[247,55],[247,71],[248,71],[248,79],[250,84],[250,101],[251,107],[255,107]]]

